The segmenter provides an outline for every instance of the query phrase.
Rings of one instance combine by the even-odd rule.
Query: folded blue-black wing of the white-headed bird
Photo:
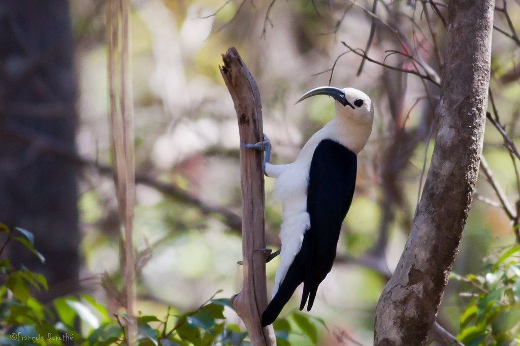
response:
[[[356,154],[333,140],[321,141],[309,170],[307,212],[310,229],[305,232],[304,287],[300,310],[314,303],[318,285],[332,269],[337,241],[356,186]]]

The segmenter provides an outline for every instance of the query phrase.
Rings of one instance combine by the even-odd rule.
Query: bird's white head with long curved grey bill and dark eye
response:
[[[354,88],[318,87],[307,91],[296,103],[314,95],[329,95],[336,106],[334,125],[339,127],[339,140],[345,141],[350,149],[356,153],[368,141],[374,120],[374,107],[368,95]],[[331,122],[332,123],[332,122]],[[347,143],[348,142],[348,143]]]

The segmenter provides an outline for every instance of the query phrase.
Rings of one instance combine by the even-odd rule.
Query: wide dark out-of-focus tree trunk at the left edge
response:
[[[9,256],[44,273],[51,295],[77,286],[76,169],[30,142],[74,150],[71,34],[66,0],[0,0],[0,223],[34,233],[45,264],[21,247]]]

